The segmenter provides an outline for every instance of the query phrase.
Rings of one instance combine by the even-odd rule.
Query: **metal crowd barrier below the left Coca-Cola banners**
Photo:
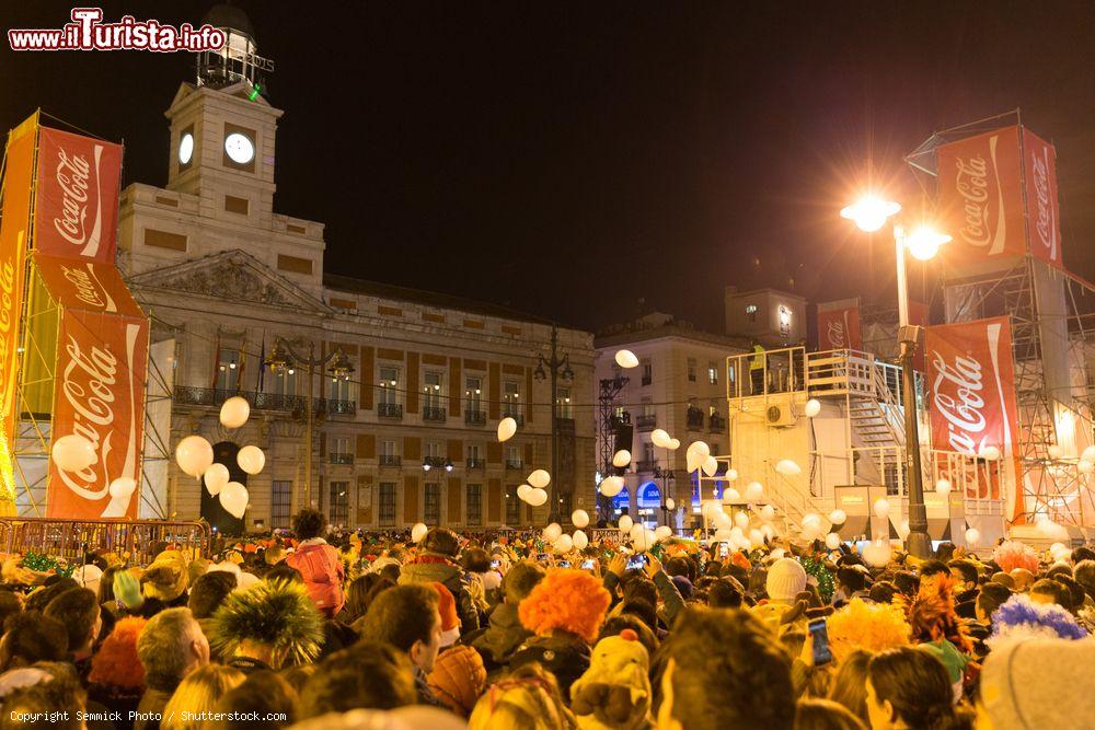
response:
[[[0,541],[8,553],[34,551],[81,560],[88,551],[106,551],[128,554],[131,564],[148,565],[164,543],[187,555],[208,557],[211,533],[205,522],[0,518]]]

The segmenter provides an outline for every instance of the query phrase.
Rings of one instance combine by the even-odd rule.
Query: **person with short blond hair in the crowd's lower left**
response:
[[[171,695],[191,672],[209,663],[209,641],[189,609],[165,609],[152,616],[137,639],[145,668],[145,694],[137,706],[135,730],[158,730]]]

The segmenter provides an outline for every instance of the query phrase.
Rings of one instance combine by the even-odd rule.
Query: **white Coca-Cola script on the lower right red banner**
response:
[[[967,357],[956,356],[954,363],[948,364],[946,358],[933,350],[932,369],[935,371],[932,403],[946,420],[947,442],[960,453],[978,454],[988,438],[980,436],[987,425],[981,410],[984,408],[981,363],[967,354]]]

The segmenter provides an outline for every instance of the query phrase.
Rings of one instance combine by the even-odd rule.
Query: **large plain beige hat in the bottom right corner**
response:
[[[1091,727],[1095,641],[1028,639],[989,652],[981,702],[994,728],[1080,730]]]

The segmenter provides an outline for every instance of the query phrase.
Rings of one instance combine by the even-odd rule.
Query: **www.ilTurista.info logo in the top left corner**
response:
[[[197,53],[220,50],[227,37],[211,25],[178,27],[159,21],[138,21],[125,15],[117,23],[103,23],[102,8],[73,8],[71,23],[60,28],[13,28],[8,31],[12,50],[176,50]]]

